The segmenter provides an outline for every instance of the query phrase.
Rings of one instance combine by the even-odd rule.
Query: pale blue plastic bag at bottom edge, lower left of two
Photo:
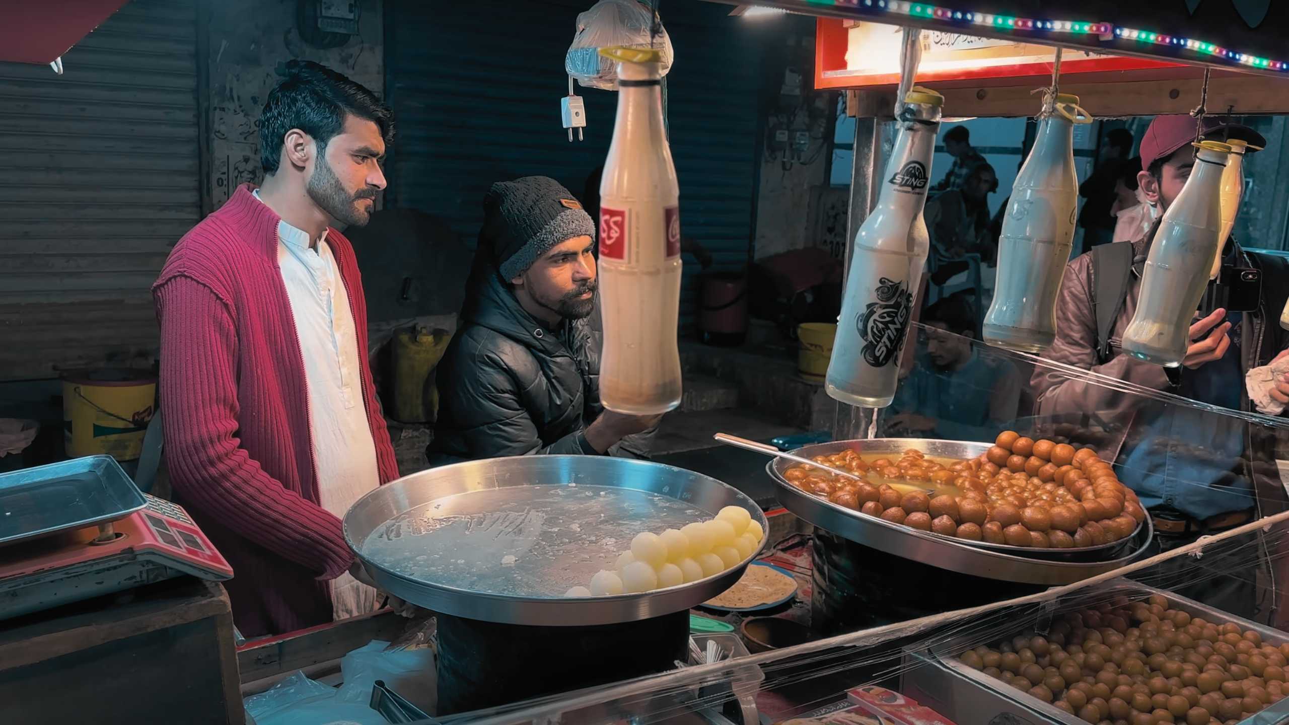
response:
[[[342,700],[335,688],[296,672],[268,690],[244,700],[255,725],[389,725],[371,710],[371,688],[361,702]]]

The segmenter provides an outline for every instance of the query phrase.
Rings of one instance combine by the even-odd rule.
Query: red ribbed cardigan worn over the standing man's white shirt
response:
[[[179,501],[233,568],[242,635],[331,621],[329,579],[353,553],[318,504],[304,359],[277,266],[280,218],[240,187],[192,228],[152,285],[161,325],[165,457]],[[327,231],[358,338],[380,482],[398,476],[367,362],[353,248]]]

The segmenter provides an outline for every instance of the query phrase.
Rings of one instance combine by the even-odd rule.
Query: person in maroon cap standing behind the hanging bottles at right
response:
[[[1250,148],[1265,146],[1261,134],[1240,124],[1209,117],[1203,128],[1205,139],[1237,138],[1249,142]],[[1195,137],[1196,121],[1191,116],[1158,116],[1142,137],[1137,182],[1146,201],[1158,205],[1161,214],[1181,194],[1195,165]],[[1143,239],[1094,246],[1070,262],[1057,298],[1056,341],[1044,359],[1208,405],[1252,410],[1244,392],[1245,372],[1289,353],[1289,333],[1276,324],[1289,294],[1289,263],[1246,252],[1231,239],[1222,263],[1261,270],[1261,303],[1249,311],[1217,308],[1197,319],[1182,365],[1160,368],[1119,350],[1137,308],[1142,266],[1158,228],[1159,222]],[[1289,508],[1272,454],[1277,442],[1285,442],[1272,440],[1275,433],[1262,426],[1201,406],[1110,390],[1090,379],[1071,379],[1052,366],[1035,369],[1031,384],[1039,415],[1084,424],[1090,417],[1115,432],[1100,453],[1118,464],[1123,482],[1150,511],[1156,531],[1154,546],[1160,550]],[[1277,383],[1275,395],[1289,400],[1289,381]],[[1197,444],[1205,449],[1203,455]],[[1207,552],[1205,569],[1248,571],[1250,551],[1254,547],[1243,547],[1243,556],[1230,561],[1223,561],[1221,552]],[[1276,564],[1275,579],[1289,579],[1286,559],[1281,556]],[[1177,564],[1176,570],[1159,569],[1151,574],[1195,575],[1194,561]],[[1259,566],[1255,581],[1212,577],[1177,591],[1226,611],[1263,622],[1279,619],[1283,624],[1289,622],[1289,611],[1275,611],[1279,602],[1270,570],[1265,569]]]

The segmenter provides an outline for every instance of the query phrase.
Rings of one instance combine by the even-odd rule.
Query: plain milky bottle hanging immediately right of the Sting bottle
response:
[[[1029,159],[1016,174],[998,239],[994,302],[985,342],[1022,352],[1047,350],[1056,338],[1056,295],[1070,261],[1079,209],[1074,125],[1090,123],[1079,97],[1060,94],[1039,121]]]

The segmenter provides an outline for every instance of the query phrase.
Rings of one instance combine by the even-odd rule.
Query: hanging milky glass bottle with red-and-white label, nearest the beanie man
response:
[[[679,187],[663,125],[659,52],[603,48],[617,61],[617,117],[599,182],[605,408],[655,415],[681,404]]]

